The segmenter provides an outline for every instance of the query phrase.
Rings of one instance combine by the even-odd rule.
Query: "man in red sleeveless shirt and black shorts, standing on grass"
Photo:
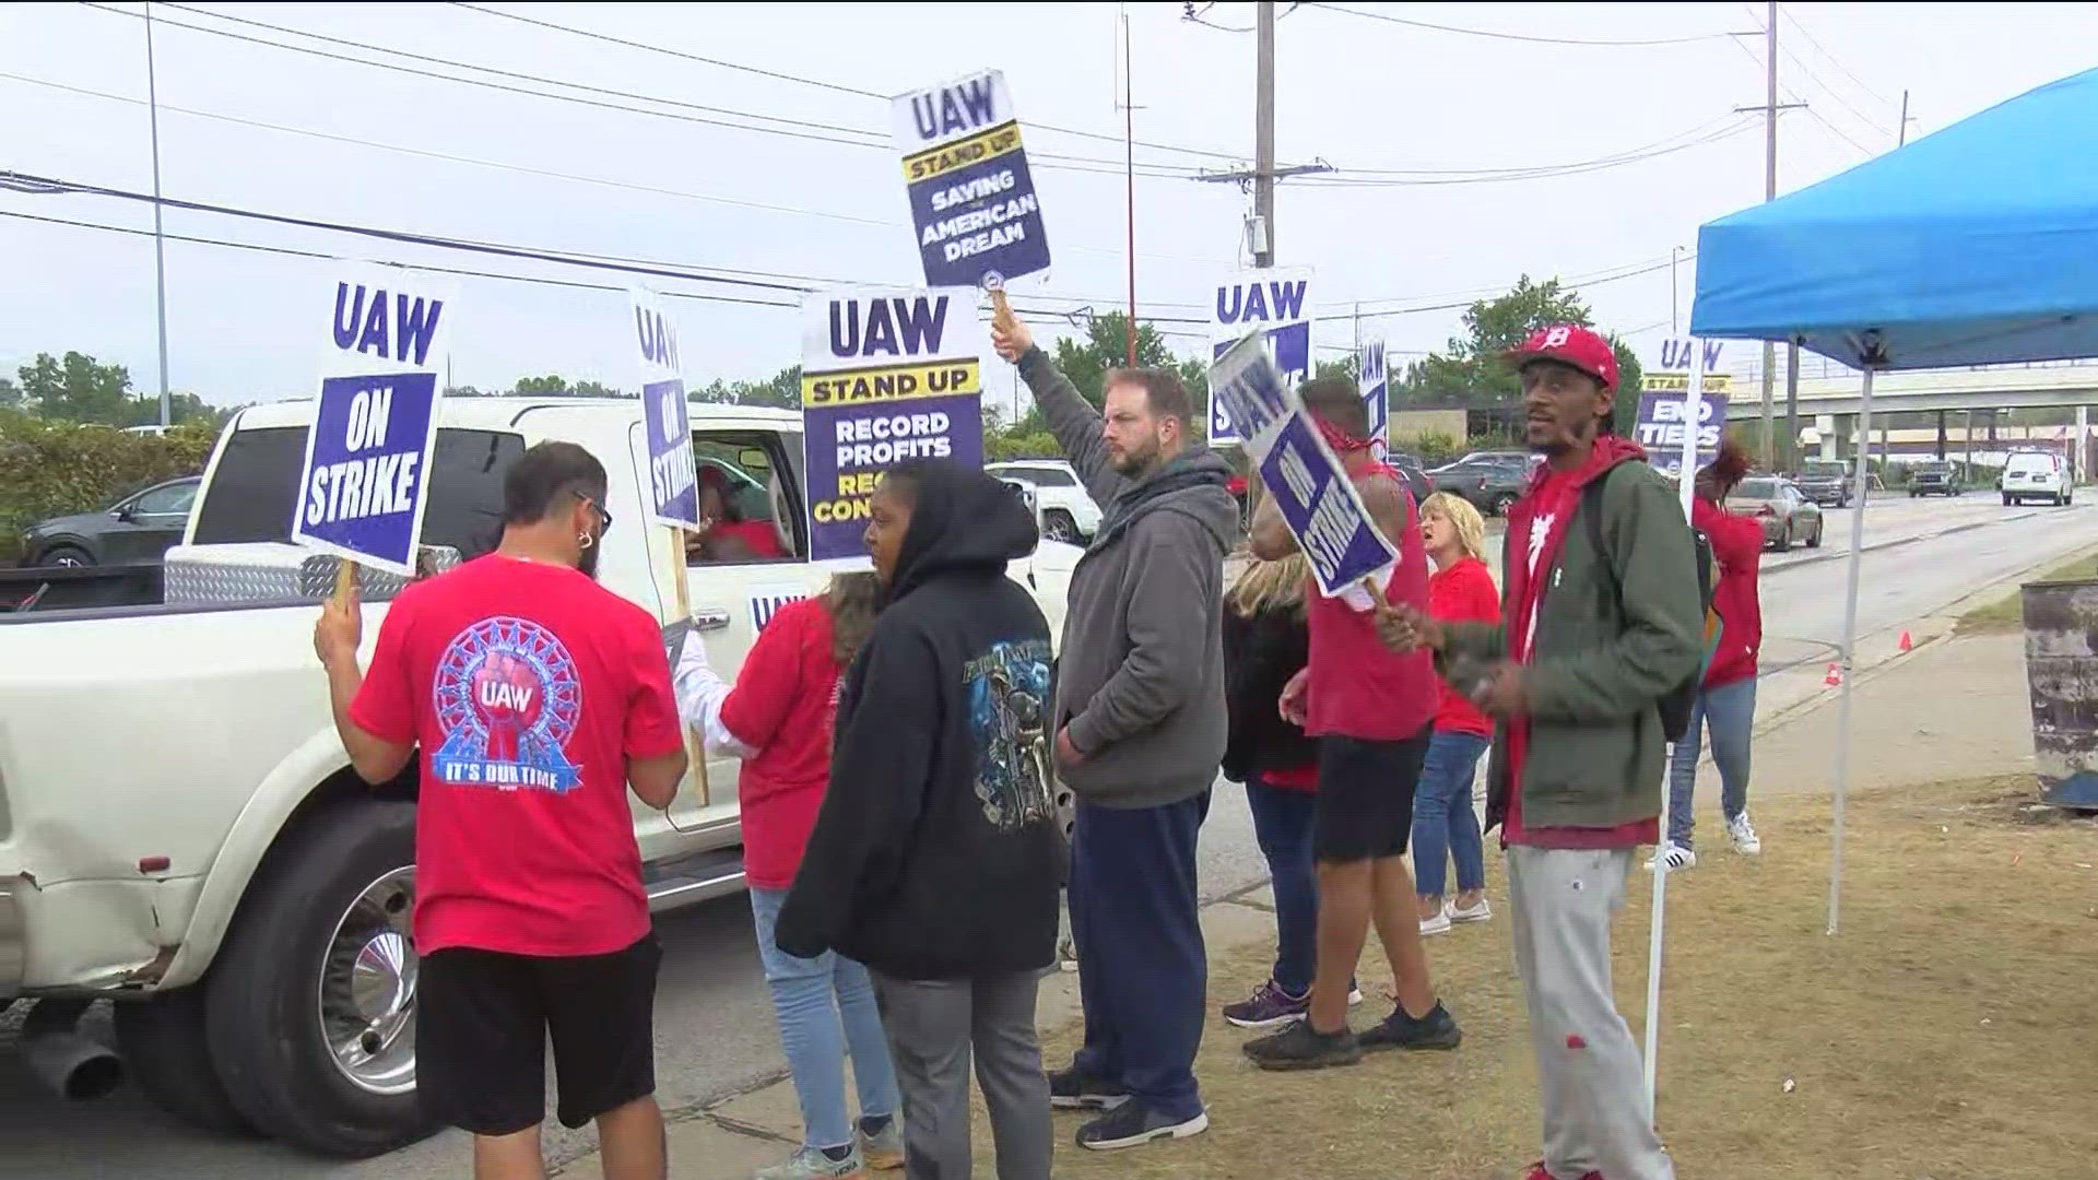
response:
[[[1435,729],[1435,663],[1427,653],[1385,651],[1376,632],[1378,598],[1427,607],[1420,521],[1397,472],[1370,458],[1370,418],[1355,382],[1309,380],[1303,401],[1399,561],[1374,596],[1353,586],[1328,598],[1311,586],[1305,598],[1311,659],[1284,689],[1280,708],[1318,741],[1311,819],[1318,974],[1303,1020],[1246,1044],[1246,1056],[1261,1069],[1353,1065],[1364,1050],[1454,1050],[1462,1039],[1429,978],[1414,878],[1404,861],[1414,789]],[[1253,517],[1253,552],[1273,561],[1297,548],[1276,498],[1265,498]],[[1357,1037],[1347,1027],[1347,999],[1372,922],[1391,962],[1397,1004]]]

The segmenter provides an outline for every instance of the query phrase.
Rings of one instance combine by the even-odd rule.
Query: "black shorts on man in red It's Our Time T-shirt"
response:
[[[533,957],[445,947],[415,985],[415,1090],[436,1121],[506,1136],[545,1119],[554,1037],[560,1123],[655,1094],[655,934],[608,955]]]

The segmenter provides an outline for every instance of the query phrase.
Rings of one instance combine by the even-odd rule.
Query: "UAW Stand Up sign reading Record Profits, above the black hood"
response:
[[[881,472],[984,466],[976,288],[816,292],[801,304],[810,561],[866,563]]]

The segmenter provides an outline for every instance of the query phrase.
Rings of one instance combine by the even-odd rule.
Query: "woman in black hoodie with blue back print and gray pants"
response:
[[[866,964],[911,1180],[969,1176],[969,1054],[999,1180],[1047,1180],[1034,989],[1055,962],[1062,842],[1049,624],[1005,575],[1034,521],[952,462],[890,470],[866,548],[890,603],[845,672],[831,785],[778,918],[789,955]]]

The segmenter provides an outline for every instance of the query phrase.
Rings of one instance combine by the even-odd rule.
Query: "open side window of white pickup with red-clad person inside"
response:
[[[766,430],[694,430],[692,458],[701,472],[703,512],[709,487],[720,487],[720,535],[694,538],[686,556],[703,565],[804,561],[799,447]]]

